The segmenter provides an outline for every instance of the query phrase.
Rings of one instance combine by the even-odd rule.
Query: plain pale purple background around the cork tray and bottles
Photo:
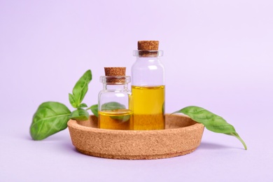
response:
[[[139,40],[165,51],[166,111],[196,105],[235,126],[248,150],[204,131],[194,153],[109,160],[77,153],[68,130],[29,136],[46,101],[92,70],[97,103],[104,66],[126,66]],[[273,1],[0,1],[0,181],[272,181]]]

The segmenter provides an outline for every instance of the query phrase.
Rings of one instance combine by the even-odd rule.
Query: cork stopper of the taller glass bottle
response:
[[[157,57],[159,41],[138,41],[137,49],[141,57]]]

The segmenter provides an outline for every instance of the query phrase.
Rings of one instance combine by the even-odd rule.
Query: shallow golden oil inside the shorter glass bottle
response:
[[[132,130],[132,113],[130,109],[99,111],[98,127],[110,130]]]

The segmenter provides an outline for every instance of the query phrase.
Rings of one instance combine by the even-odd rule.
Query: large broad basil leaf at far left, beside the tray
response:
[[[44,102],[32,118],[31,138],[42,140],[66,129],[71,111],[59,102]]]

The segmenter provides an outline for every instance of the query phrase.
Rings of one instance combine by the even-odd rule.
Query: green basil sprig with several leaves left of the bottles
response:
[[[52,134],[60,132],[66,129],[69,119],[87,120],[89,113],[83,109],[87,105],[81,102],[83,102],[91,80],[92,73],[90,70],[87,70],[73,87],[72,94],[69,94],[69,102],[73,108],[76,108],[73,112],[59,102],[44,102],[38,106],[29,129],[31,138],[43,140]]]

